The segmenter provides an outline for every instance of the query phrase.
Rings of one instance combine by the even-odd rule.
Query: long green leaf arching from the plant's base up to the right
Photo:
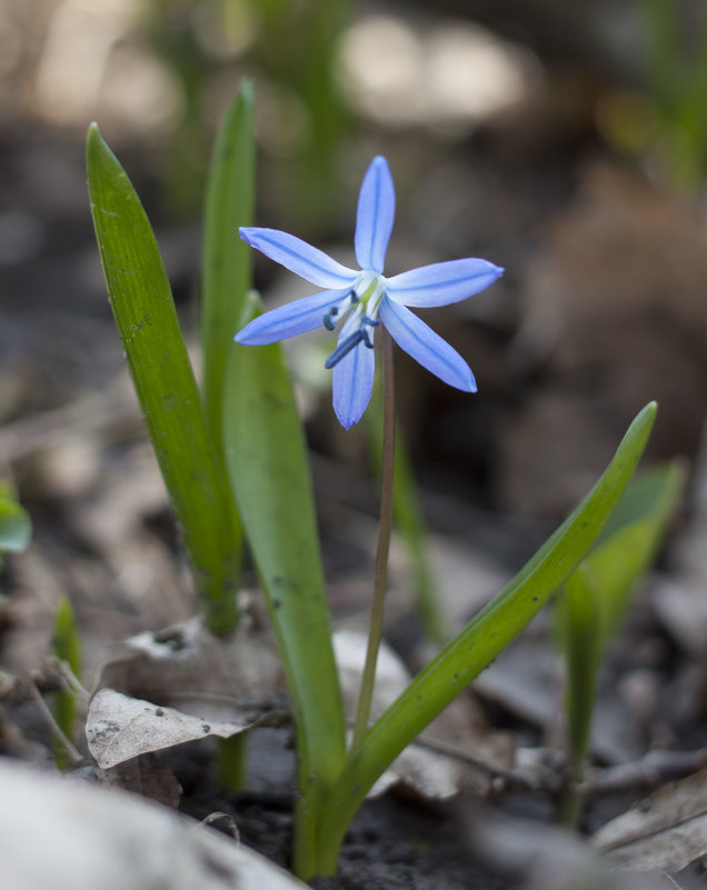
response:
[[[585,500],[372,727],[326,802],[319,844],[322,873],[336,863],[343,833],[378,777],[515,639],[584,559],[636,468],[655,414],[654,402],[644,408]]]

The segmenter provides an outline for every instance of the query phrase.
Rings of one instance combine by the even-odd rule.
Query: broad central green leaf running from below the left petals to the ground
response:
[[[295,869],[308,876],[321,800],[343,762],[345,727],[305,439],[280,346],[233,344],[226,389],[226,459],[297,724]]]

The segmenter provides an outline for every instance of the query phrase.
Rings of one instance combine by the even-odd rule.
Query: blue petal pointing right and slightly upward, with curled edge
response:
[[[448,306],[488,288],[504,270],[487,260],[451,260],[386,279],[391,299],[404,306]]]

